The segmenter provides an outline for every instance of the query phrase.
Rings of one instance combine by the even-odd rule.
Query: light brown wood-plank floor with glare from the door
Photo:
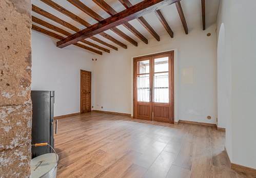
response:
[[[58,120],[54,139],[57,177],[242,177],[213,127],[92,112]]]

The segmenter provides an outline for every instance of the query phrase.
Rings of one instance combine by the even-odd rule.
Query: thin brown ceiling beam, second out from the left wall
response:
[[[42,19],[37,18],[37,17],[35,17],[35,16],[33,16],[33,15],[32,15],[32,22],[34,22],[34,23],[36,23],[36,24],[39,24],[39,25],[42,25],[42,26],[44,26],[44,27],[46,27],[46,28],[48,28],[48,29],[51,29],[51,30],[53,30],[53,31],[56,31],[56,32],[58,32],[58,33],[64,34],[65,36],[70,36],[70,35],[72,35],[72,33],[69,33],[69,32],[67,32],[67,31],[65,31],[65,30],[63,30],[63,29],[61,29],[61,28],[58,28],[58,27],[56,27],[56,26],[54,26],[54,25],[52,25],[52,24],[49,24],[49,23],[43,21]],[[92,47],[94,47],[94,48],[100,49],[100,50],[102,50],[102,51],[105,51],[105,52],[110,53],[110,50],[109,50],[109,49],[103,48],[103,47],[101,47],[101,46],[99,46],[99,45],[95,45],[95,44],[93,44],[93,43],[91,43],[91,42],[86,41],[85,39],[81,40],[80,42],[85,43],[85,44],[87,44],[87,45],[90,45],[90,46],[92,46]]]

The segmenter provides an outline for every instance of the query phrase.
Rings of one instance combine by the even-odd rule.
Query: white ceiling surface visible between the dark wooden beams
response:
[[[67,2],[65,0],[52,0],[52,1],[57,3],[58,5],[61,5],[65,9],[71,11],[75,15],[80,16],[81,18],[85,19],[85,21],[87,21],[90,24],[96,24],[97,23],[97,21],[95,21],[92,17],[90,17],[89,15],[84,13],[83,11],[77,9],[75,6],[73,6],[72,4],[70,4],[69,2]],[[104,18],[110,17],[110,15],[107,12],[105,12],[103,9],[101,9],[99,6],[97,6],[91,0],[80,0],[80,1],[83,2],[89,8],[91,8],[96,13],[100,14],[102,17],[104,17]],[[135,4],[140,3],[142,1],[143,0],[130,0],[132,5],[135,5]],[[105,0],[105,2],[107,2],[117,12],[121,12],[122,10],[125,10],[125,7],[119,2],[119,0]],[[80,29],[85,28],[83,25],[73,21],[68,16],[66,16],[66,15],[62,14],[61,12],[58,12],[57,10],[51,8],[50,6],[41,2],[40,0],[32,0],[32,4],[37,6],[37,7],[40,7],[41,9],[46,10],[47,12],[49,12],[49,13],[51,13],[51,14],[53,14],[53,15],[61,18],[61,19],[63,19],[64,21],[74,25],[77,28],[80,28]],[[182,8],[183,8],[185,18],[186,18],[188,31],[192,30],[195,27],[202,26],[201,0],[182,0],[181,5],[182,5]],[[216,22],[219,0],[205,0],[205,5],[206,5],[206,29],[207,29],[210,25],[212,25]],[[168,22],[170,28],[172,29],[172,31],[174,33],[174,38],[175,38],[175,32],[184,30],[183,25],[181,23],[180,16],[178,14],[178,11],[177,11],[175,5],[172,4],[170,6],[166,6],[163,9],[161,9],[161,12],[164,15],[166,21]],[[35,13],[35,12],[32,12],[32,15],[36,16],[38,18],[41,18],[44,21],[46,21],[46,22],[48,22],[52,25],[55,25],[57,27],[60,27],[60,28],[66,30],[70,33],[74,33],[72,30],[70,30],[68,28],[65,28],[62,25],[59,25],[59,24],[51,21],[50,19],[48,19],[44,16],[41,16],[41,15]],[[156,17],[156,15],[154,13],[149,13],[147,15],[144,15],[143,17],[151,25],[151,27],[156,31],[156,33],[159,34],[160,38],[161,38],[162,35],[168,34],[167,31],[165,30],[165,28],[160,23],[159,19]],[[139,21],[137,21],[137,19],[134,19],[134,20],[130,21],[129,23],[136,30],[141,32],[147,39],[153,38],[153,36],[139,23]],[[40,26],[38,24],[35,24],[35,25]],[[40,26],[40,27],[42,27],[42,26]],[[45,27],[42,27],[42,28],[45,28]],[[132,37],[136,42],[141,41],[134,34],[132,34],[129,30],[127,30],[124,26],[120,25],[120,26],[117,26],[117,28],[119,28],[120,30],[125,32],[127,35]],[[49,30],[49,29],[47,29],[47,30]],[[51,30],[49,30],[49,31],[51,31]],[[54,32],[54,31],[52,31],[52,32]],[[127,42],[125,39],[123,39],[119,35],[115,34],[114,32],[112,32],[111,30],[107,30],[105,32],[108,33],[109,35],[113,36],[117,40],[121,41],[122,43],[124,43],[126,45],[129,44],[129,42]],[[54,33],[56,33],[56,32],[54,32]],[[62,35],[62,34],[60,34],[60,35]],[[106,38],[104,38],[100,35],[95,35],[95,36],[102,39],[103,41],[113,45],[113,46],[116,46],[116,47],[120,48],[119,46],[117,46],[114,43],[108,41]],[[90,41],[90,42],[93,42],[94,44],[100,45],[104,48],[107,48],[106,46],[103,46],[99,43],[96,43],[96,42],[92,41],[91,39],[87,39],[87,40]]]

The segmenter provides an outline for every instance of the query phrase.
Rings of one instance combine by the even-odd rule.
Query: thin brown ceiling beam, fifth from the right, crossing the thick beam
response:
[[[100,6],[103,10],[105,10],[109,15],[117,14],[117,12],[109,6],[104,0],[92,0],[95,4]],[[127,28],[130,32],[132,32],[135,36],[141,39],[144,43],[148,44],[148,39],[143,36],[139,31],[137,31],[131,24],[128,22],[124,23],[123,26]]]

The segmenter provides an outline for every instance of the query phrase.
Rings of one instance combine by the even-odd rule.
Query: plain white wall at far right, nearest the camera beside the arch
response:
[[[222,0],[217,17],[217,29],[221,23],[225,25],[225,53],[232,78],[232,118],[226,123],[226,148],[232,163],[251,168],[256,168],[256,22],[250,20],[256,16],[255,7],[253,0],[246,4]]]

